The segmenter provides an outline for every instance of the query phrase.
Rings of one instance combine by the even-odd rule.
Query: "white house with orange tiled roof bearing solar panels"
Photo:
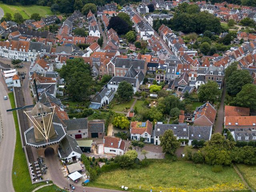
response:
[[[132,140],[140,141],[140,138],[144,138],[145,142],[151,142],[153,124],[147,120],[146,122],[131,122],[130,133]]]

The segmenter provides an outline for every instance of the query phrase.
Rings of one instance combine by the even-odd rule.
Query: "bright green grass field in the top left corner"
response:
[[[8,5],[4,3],[0,3],[0,7],[4,10],[4,13],[14,14],[16,12],[20,13],[24,19],[30,18],[33,13],[39,13],[40,16],[52,15],[52,11],[50,7],[46,6],[38,6],[38,5],[30,5],[30,6],[22,6],[22,5]]]

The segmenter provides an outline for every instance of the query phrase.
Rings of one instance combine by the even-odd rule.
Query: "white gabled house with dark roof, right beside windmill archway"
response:
[[[83,152],[78,146],[76,140],[66,134],[66,137],[60,142],[58,154],[62,162],[69,163],[78,161],[81,158]]]

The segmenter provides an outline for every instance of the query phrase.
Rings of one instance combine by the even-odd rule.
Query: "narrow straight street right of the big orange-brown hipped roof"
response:
[[[223,123],[224,123],[224,101],[226,96],[226,83],[224,82],[220,107],[217,112],[217,120],[214,126],[214,133],[221,133],[223,130]]]

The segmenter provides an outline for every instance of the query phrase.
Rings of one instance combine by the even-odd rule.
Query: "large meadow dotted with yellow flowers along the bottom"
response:
[[[220,173],[212,172],[212,166],[186,161],[167,162],[151,160],[147,168],[114,170],[103,173],[89,186],[120,189],[127,186],[134,192],[208,192],[246,190],[234,168],[224,167]],[[141,190],[139,190],[141,186]]]

